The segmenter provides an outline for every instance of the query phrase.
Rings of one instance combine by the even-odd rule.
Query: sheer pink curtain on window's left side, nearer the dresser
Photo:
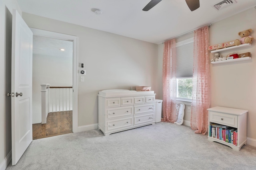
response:
[[[163,118],[165,122],[175,122],[176,115],[176,41],[164,42],[163,57]]]

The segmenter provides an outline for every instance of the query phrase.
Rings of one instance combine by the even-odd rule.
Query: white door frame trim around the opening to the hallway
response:
[[[30,28],[33,35],[50,37],[73,42],[73,133],[78,132],[78,37],[74,35],[67,35],[56,33],[52,31],[45,31],[42,29]]]

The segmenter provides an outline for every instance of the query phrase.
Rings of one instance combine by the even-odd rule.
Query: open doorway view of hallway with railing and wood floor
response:
[[[72,61],[72,41],[33,36],[33,139],[73,132]]]

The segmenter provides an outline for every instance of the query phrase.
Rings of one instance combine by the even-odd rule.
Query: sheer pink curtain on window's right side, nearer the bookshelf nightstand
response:
[[[208,129],[208,111],[210,108],[210,60],[208,54],[208,26],[194,31],[194,69],[191,128],[203,135]]]

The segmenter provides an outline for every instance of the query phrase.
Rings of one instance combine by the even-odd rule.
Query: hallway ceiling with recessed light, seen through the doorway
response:
[[[65,51],[60,49],[65,49]],[[72,58],[73,42],[34,35],[33,54]]]

